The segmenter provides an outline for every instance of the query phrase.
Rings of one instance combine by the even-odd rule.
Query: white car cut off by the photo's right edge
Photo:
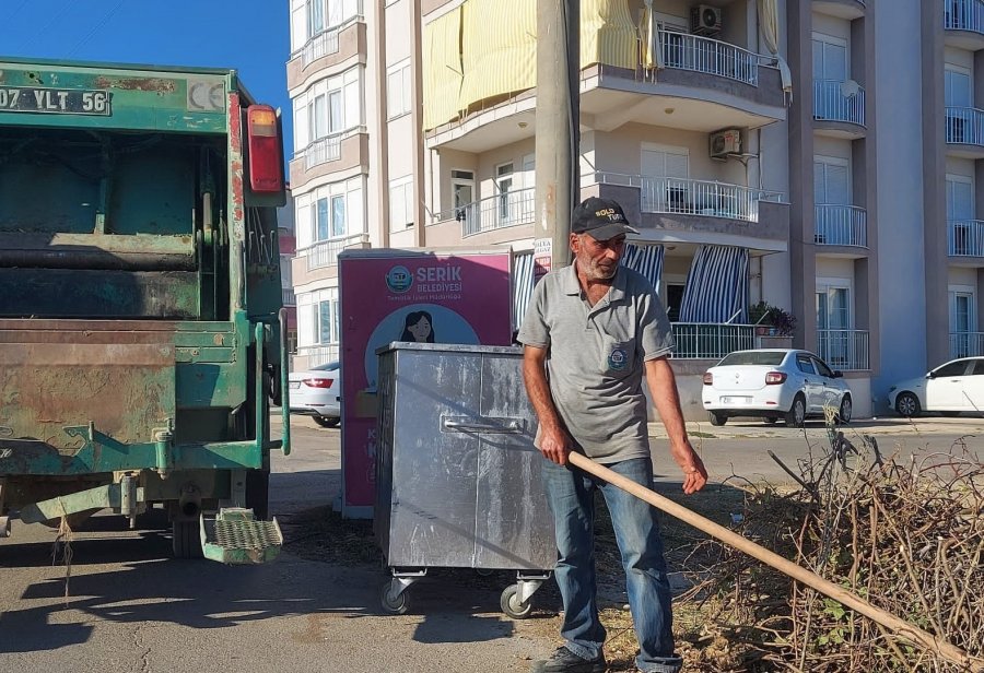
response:
[[[984,357],[951,359],[926,376],[895,383],[889,389],[889,405],[900,416],[918,416],[924,411],[945,416],[984,412]]]

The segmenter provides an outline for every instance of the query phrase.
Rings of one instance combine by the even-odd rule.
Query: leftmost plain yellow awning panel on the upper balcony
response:
[[[433,129],[458,116],[461,96],[461,8],[427,24],[423,32],[423,125]]]

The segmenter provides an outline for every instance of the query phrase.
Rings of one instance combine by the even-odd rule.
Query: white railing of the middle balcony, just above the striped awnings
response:
[[[712,180],[640,177],[644,213],[682,213],[759,221],[759,201],[783,202],[777,191]]]

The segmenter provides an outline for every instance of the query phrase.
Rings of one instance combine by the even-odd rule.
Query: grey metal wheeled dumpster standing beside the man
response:
[[[375,534],[393,579],[387,612],[430,567],[515,569],[500,604],[514,618],[557,562],[534,447],[522,351],[395,342],[379,355]]]

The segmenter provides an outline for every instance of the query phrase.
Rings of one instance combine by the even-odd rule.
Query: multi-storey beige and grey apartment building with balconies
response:
[[[522,315],[536,1],[291,3],[298,359],[337,356],[345,247],[511,247]],[[689,416],[736,349],[816,351],[855,416],[984,353],[982,0],[581,5],[581,196],[639,224],[626,263],[668,308]],[[792,339],[749,323],[759,300]]]

